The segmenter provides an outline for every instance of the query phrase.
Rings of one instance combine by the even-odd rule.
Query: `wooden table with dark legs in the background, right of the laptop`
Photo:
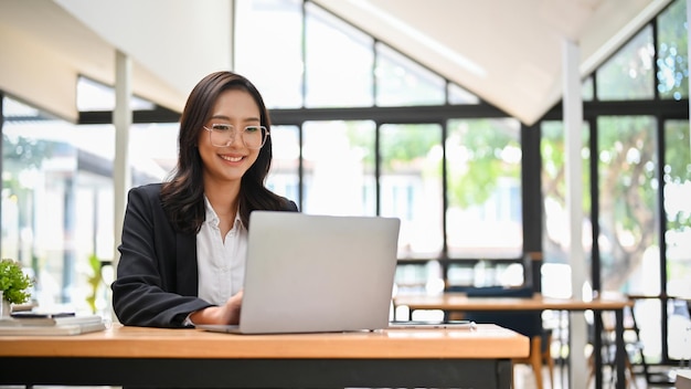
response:
[[[628,298],[605,299],[596,298],[589,302],[573,298],[550,298],[542,295],[528,297],[468,297],[463,293],[444,293],[440,295],[401,295],[394,298],[394,309],[397,306],[407,306],[410,308],[410,317],[416,309],[440,309],[444,312],[478,312],[478,311],[593,311],[597,313],[595,320],[595,334],[602,334],[602,320],[599,314],[605,311],[615,313],[616,324],[616,367],[617,367],[617,388],[626,387],[625,362],[626,349],[624,346],[624,308],[632,306],[632,302]],[[602,338],[596,336],[594,339],[594,349],[602,349]],[[602,377],[602,354],[595,353],[595,387],[603,387]]]

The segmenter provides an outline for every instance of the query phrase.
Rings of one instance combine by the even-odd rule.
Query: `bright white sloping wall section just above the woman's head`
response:
[[[231,0],[54,1],[185,98],[208,73],[230,70]]]

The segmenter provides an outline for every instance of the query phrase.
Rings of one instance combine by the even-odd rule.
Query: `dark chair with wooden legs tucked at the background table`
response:
[[[468,297],[532,297],[531,288],[507,288],[503,286],[489,287],[463,287],[450,286],[447,292],[463,292]],[[542,312],[467,312],[464,318],[476,323],[493,323],[501,327],[512,329],[530,338],[530,355],[527,358],[515,358],[513,364],[525,364],[532,367],[535,375],[535,386],[542,389],[542,367],[546,365],[550,372],[550,387],[554,388],[554,359],[552,358],[551,344],[552,330],[542,325]],[[515,382],[513,383],[515,388]]]

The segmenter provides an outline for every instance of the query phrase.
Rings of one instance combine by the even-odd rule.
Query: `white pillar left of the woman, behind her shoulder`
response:
[[[115,111],[113,112],[113,124],[115,125],[113,266],[115,270],[117,270],[119,259],[117,246],[120,244],[123,236],[123,218],[127,204],[127,190],[131,186],[128,153],[129,127],[132,125],[131,91],[131,60],[118,51],[115,59]]]

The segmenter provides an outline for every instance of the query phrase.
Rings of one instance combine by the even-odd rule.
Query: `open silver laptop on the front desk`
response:
[[[322,333],[389,326],[396,218],[254,211],[238,334]]]

